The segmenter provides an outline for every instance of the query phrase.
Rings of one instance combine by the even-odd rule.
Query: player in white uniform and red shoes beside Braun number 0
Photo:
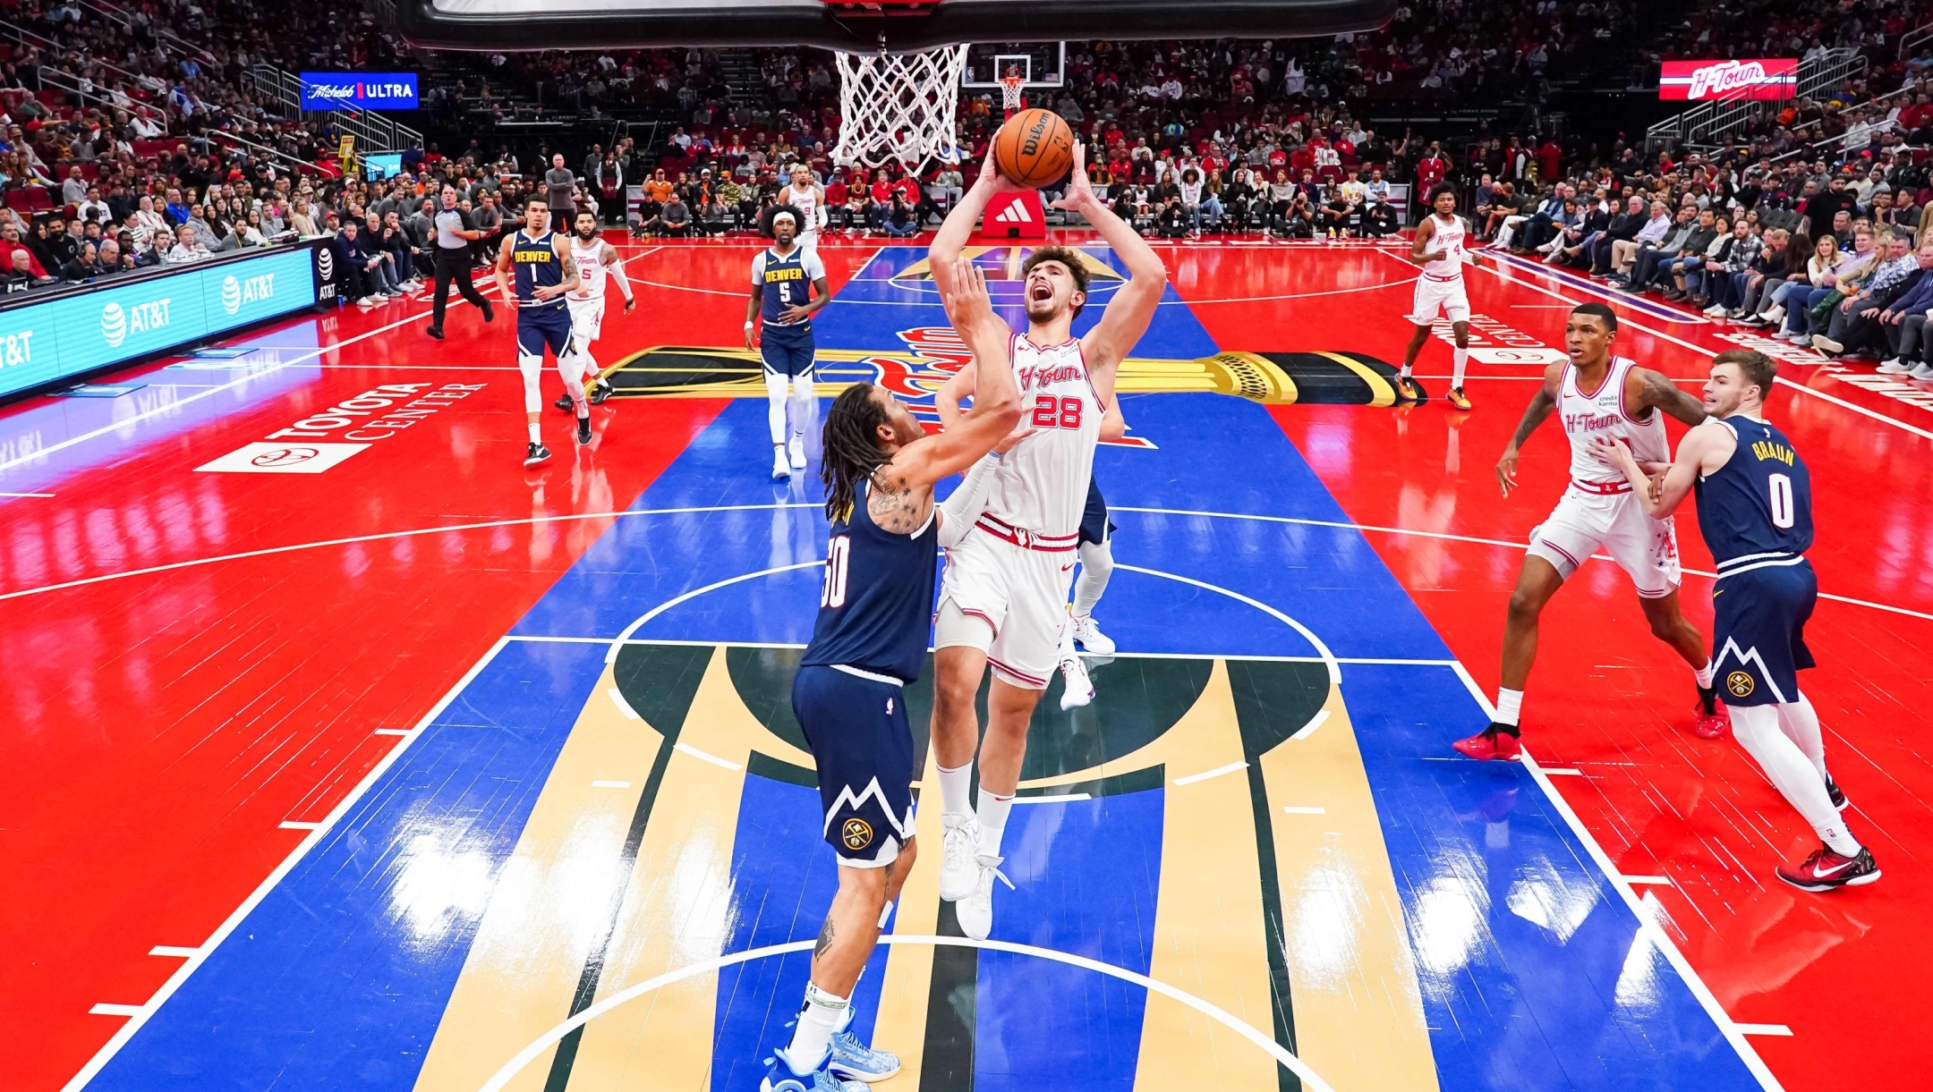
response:
[[[1604,303],[1581,303],[1570,313],[1564,323],[1570,359],[1544,367],[1543,387],[1531,396],[1517,433],[1496,462],[1496,481],[1504,497],[1510,497],[1517,487],[1517,450],[1544,417],[1558,414],[1572,445],[1570,487],[1550,518],[1531,532],[1531,551],[1517,572],[1504,622],[1504,676],[1496,692],[1496,719],[1488,729],[1454,744],[1471,758],[1515,760],[1521,754],[1517,719],[1523,684],[1537,659],[1537,618],[1577,566],[1601,549],[1637,586],[1637,603],[1651,622],[1651,636],[1672,646],[1697,675],[1699,713],[1693,731],[1703,738],[1724,733],[1705,638],[1678,611],[1678,530],[1668,514],[1649,516],[1624,470],[1593,446],[1597,439],[1618,441],[1647,470],[1662,470],[1670,462],[1664,414],[1699,425],[1705,421],[1705,408],[1664,375],[1612,356],[1616,338],[1618,315]]]

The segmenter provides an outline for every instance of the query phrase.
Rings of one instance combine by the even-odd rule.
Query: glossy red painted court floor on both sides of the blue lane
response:
[[[874,249],[829,242],[833,288]],[[740,344],[752,244],[620,253],[640,305],[611,305],[603,363],[653,344]],[[1224,350],[1401,359],[1415,271],[1399,251],[1160,253]],[[1467,282],[1479,344],[1494,358],[1560,352],[1568,307],[1601,298],[1490,257]],[[1736,344],[1722,340],[1730,327],[1684,311],[1624,298],[1618,307],[1616,352],[1693,385],[1713,352]],[[723,408],[613,402],[593,412],[590,452],[547,412],[557,458],[526,474],[510,323],[483,325],[456,305],[448,340],[435,342],[427,317],[427,298],[346,309],[234,338],[269,354],[251,371],[168,359],[116,375],[149,385],[139,404],[0,408],[0,932],[12,941],[0,1022],[23,1044],[0,1061],[0,1086],[66,1084],[114,1036],[118,1007],[143,1005],[176,972],[170,949],[201,945],[263,887],[396,746],[394,733]],[[1504,605],[1531,528],[1564,487],[1568,450],[1546,423],[1525,448],[1521,489],[1502,499],[1494,464],[1541,367],[1477,359],[1469,414],[1434,398],[1450,348],[1432,340],[1419,363],[1425,406],[1274,416],[1494,694]],[[1525,702],[1527,748],[1786,1088],[1923,1082],[1927,1017],[1902,984],[1933,972],[1918,653],[1933,640],[1933,412],[1914,385],[1869,375],[1786,365],[1769,416],[1813,474],[1809,557],[1827,599],[1807,628],[1821,667],[1803,682],[1881,883],[1821,897],[1773,879],[1811,831],[1730,740],[1691,736],[1689,673],[1649,636],[1614,564],[1589,562],[1544,613]],[[547,373],[547,398],[559,388]],[[327,474],[195,472],[385,390],[437,412]],[[1682,427],[1670,429],[1676,441]],[[1214,510],[1214,495],[1204,479],[1197,506]],[[1680,545],[1686,613],[1709,632],[1713,564],[1689,506]],[[1856,1032],[1860,1048],[1840,1049]]]

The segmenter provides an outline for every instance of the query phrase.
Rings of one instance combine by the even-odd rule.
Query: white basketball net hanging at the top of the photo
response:
[[[835,52],[839,66],[839,164],[959,162],[959,108],[966,46],[907,54]]]

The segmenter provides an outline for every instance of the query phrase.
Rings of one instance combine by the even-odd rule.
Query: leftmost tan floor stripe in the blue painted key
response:
[[[609,914],[624,883],[613,866],[663,742],[651,725],[624,719],[603,698],[613,678],[605,667],[499,874],[418,1073],[419,1092],[474,1092],[522,1044],[570,1015],[584,961],[601,935],[601,922],[588,914]],[[595,787],[597,781],[630,785],[613,790]],[[425,868],[437,864],[431,852],[443,858],[445,870],[447,862],[464,858],[462,847],[425,847]],[[423,879],[447,881],[448,876],[437,872]],[[425,897],[435,895],[425,891]],[[510,1088],[539,1092],[549,1067],[545,1051]]]

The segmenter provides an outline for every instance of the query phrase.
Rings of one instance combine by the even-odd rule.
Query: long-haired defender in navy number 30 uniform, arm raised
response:
[[[793,713],[818,760],[825,841],[839,893],[812,949],[812,980],[793,1040],[773,1051],[764,1092],[849,1092],[899,1073],[899,1057],[860,1044],[852,988],[880,941],[916,856],[907,686],[926,663],[939,547],[972,532],[999,452],[1032,435],[1015,373],[997,367],[1007,329],[968,261],[949,276],[947,319],[980,369],[974,410],[928,437],[883,387],[854,385],[825,414],[825,582],[812,644],[793,680]],[[934,483],[966,479],[934,504]]]

